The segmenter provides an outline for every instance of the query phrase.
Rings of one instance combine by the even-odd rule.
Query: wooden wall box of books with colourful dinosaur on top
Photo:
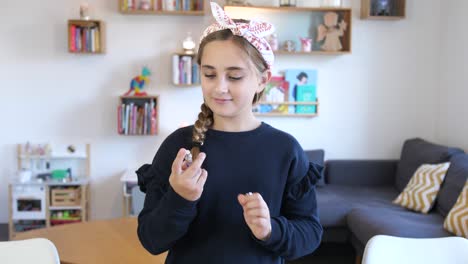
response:
[[[157,135],[158,96],[120,96],[117,107],[117,132],[125,136]]]

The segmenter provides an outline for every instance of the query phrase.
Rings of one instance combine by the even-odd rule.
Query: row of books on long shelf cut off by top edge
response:
[[[203,0],[123,0],[124,10],[200,11]]]

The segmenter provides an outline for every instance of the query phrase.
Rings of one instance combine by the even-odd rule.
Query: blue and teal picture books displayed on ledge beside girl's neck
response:
[[[281,104],[284,102],[285,104]],[[288,104],[297,102],[297,104]],[[259,113],[315,114],[317,106],[317,70],[288,69],[284,76],[274,76],[266,85],[258,106]]]

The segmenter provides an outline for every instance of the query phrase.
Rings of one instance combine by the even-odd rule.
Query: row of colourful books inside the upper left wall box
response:
[[[100,31],[98,27],[70,26],[70,51],[99,52],[101,50]]]

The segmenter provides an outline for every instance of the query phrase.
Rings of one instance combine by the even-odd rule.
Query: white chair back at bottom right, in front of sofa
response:
[[[467,264],[468,239],[462,237],[372,237],[362,264]]]

